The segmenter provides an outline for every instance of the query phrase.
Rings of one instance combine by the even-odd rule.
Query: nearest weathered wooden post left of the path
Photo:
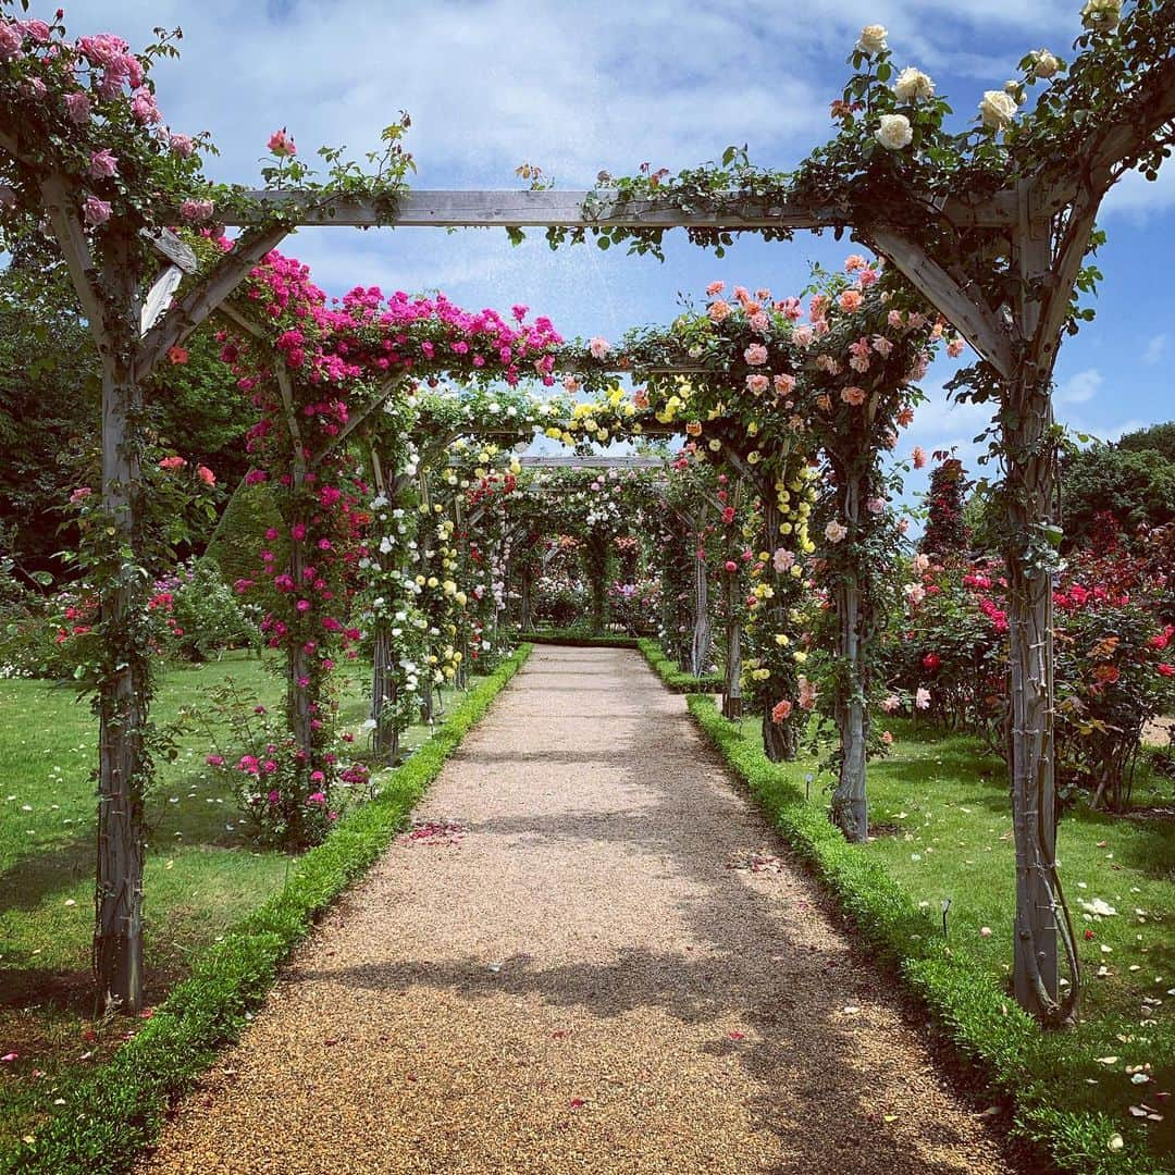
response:
[[[136,242],[112,229],[103,271],[110,303],[102,363],[102,509],[114,533],[100,540],[108,583],[101,599],[109,643],[98,696],[98,870],[94,975],[98,1013],[137,1013],[143,1003],[143,725],[149,696],[143,652],[145,583],[135,566],[139,478],[136,417],[142,389],[134,365],[139,338]],[[101,330],[102,324],[92,324]],[[123,551],[129,559],[123,559]]]

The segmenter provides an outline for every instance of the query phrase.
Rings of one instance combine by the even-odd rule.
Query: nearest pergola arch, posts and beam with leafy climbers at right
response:
[[[1106,15],[1110,9],[1113,20]],[[724,167],[711,173],[683,173],[669,183],[645,177],[597,192],[372,195],[354,183],[237,192],[219,220],[241,228],[241,236],[202,273],[195,271],[189,250],[160,228],[177,222],[179,192],[142,193],[139,210],[110,215],[107,209],[101,231],[88,233],[80,170],[70,170],[65,154],[46,149],[32,108],[6,96],[0,105],[5,173],[19,181],[26,203],[35,201],[43,210],[102,363],[102,504],[109,542],[101,558],[109,573],[101,605],[110,644],[99,680],[95,958],[109,996],[127,1010],[141,999],[140,895],[109,880],[142,875],[136,779],[145,761],[147,690],[141,663],[122,656],[135,640],[129,577],[140,479],[132,438],[145,382],[169,349],[221,309],[253,267],[300,226],[498,227],[515,236],[538,227],[556,240],[629,239],[638,251],[657,249],[673,228],[701,244],[736,233],[786,239],[795,230],[847,229],[900,269],[966,337],[982,360],[973,388],[998,402],[1008,524],[1015,989],[1019,1001],[1046,1020],[1068,1014],[1059,987],[1058,942],[1067,940],[1067,932],[1053,814],[1050,578],[1059,538],[1059,435],[1052,375],[1062,334],[1074,322],[1075,290],[1088,284],[1083,266],[1102,199],[1134,167],[1153,176],[1175,141],[1175,0],[1139,0],[1114,41],[1112,60],[1107,45],[1117,8],[1089,5],[1087,12],[1086,52],[1066,92],[1052,105],[1042,100],[1043,113],[1013,140],[1003,162],[985,156],[982,142],[968,148],[966,160],[961,152],[933,160],[901,155],[915,135],[916,149],[924,139],[938,141],[941,130],[942,112],[919,109],[916,99],[900,106],[908,114],[887,115],[901,119],[908,136],[884,134],[885,127],[874,136],[868,120],[899,105],[884,85],[892,73],[884,41],[880,48],[862,41],[854,54],[858,76],[845,92],[841,136],[794,175],[758,172],[727,153]],[[1052,76],[1042,61],[1034,68],[1035,78]],[[853,122],[854,101],[879,95],[881,105]],[[1010,123],[1010,115],[1001,123],[996,112],[988,125]],[[974,164],[974,183],[959,182],[964,162]],[[282,394],[288,403],[284,388]]]

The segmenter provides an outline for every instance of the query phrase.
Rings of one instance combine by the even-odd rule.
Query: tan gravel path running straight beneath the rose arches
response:
[[[1008,1171],[634,652],[538,649],[162,1173]]]

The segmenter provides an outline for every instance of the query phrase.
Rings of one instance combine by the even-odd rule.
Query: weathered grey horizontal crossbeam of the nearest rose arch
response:
[[[388,215],[374,200],[322,199],[297,189],[243,193],[248,201],[280,209],[295,224],[374,228],[711,228],[732,230],[819,229],[852,223],[852,209],[813,202],[768,203],[741,193],[717,193],[710,209],[679,208],[669,199],[624,200],[609,189],[595,192],[429,190],[408,192]],[[959,226],[1006,227],[1014,204],[1007,194],[978,203],[953,199],[944,213]],[[249,226],[256,214],[226,216],[226,223]]]

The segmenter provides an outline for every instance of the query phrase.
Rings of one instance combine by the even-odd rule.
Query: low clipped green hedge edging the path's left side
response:
[[[43,1175],[116,1175],[154,1142],[172,1101],[190,1089],[216,1050],[235,1040],[293,947],[403,828],[465,733],[530,656],[521,645],[477,685],[378,797],[356,808],[298,861],[282,889],[196,962],[134,1040],[76,1088],[73,1104],[35,1141],[0,1155],[4,1169]]]

